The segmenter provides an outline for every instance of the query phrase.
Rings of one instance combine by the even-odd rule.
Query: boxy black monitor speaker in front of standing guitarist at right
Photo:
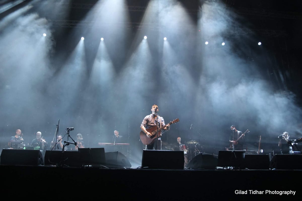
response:
[[[219,167],[241,168],[244,162],[245,151],[223,151],[218,152]]]

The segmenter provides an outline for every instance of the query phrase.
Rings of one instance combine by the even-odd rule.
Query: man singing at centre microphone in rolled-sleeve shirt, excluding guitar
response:
[[[150,132],[148,132],[147,130],[149,130],[151,128],[155,128],[154,129],[155,132],[157,130],[159,130],[158,139],[157,139],[157,137],[153,137],[153,140],[151,141],[151,143],[146,144],[146,145],[147,145],[147,149],[161,150],[162,149],[162,141],[161,141],[161,138],[160,138],[162,136],[161,135],[161,130],[162,129],[163,130],[169,130],[170,129],[170,124],[165,125],[164,118],[160,117],[157,114],[159,109],[158,109],[158,106],[156,104],[152,105],[151,111],[152,111],[152,114],[147,115],[143,119],[143,122],[140,124],[140,129],[142,130],[143,133],[146,134],[146,137],[149,138],[149,139],[151,139],[151,137],[153,137],[153,135]],[[164,128],[162,128],[162,127],[164,127]]]

